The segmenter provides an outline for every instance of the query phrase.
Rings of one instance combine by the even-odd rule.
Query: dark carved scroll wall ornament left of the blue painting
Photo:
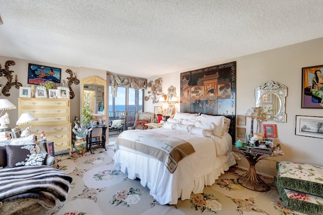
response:
[[[5,69],[3,69],[0,64],[0,77],[4,76],[8,80],[7,84],[2,89],[2,93],[4,94],[4,96],[7,96],[7,97],[10,96],[10,93],[8,92],[12,87],[15,87],[17,89],[22,87],[22,84],[18,82],[17,75],[16,75],[15,82],[12,82],[13,76],[11,74],[14,73],[15,71],[9,70],[9,66],[15,65],[15,64],[16,63],[13,60],[8,60],[5,65]]]

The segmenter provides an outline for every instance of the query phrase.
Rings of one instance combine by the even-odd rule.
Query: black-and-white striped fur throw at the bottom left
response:
[[[72,178],[49,166],[22,166],[0,170],[0,201],[33,199],[46,209],[64,202]]]

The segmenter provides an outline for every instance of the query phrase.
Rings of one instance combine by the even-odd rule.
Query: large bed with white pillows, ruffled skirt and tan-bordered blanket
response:
[[[229,124],[224,116],[177,112],[161,128],[123,131],[115,144],[115,167],[139,178],[160,204],[177,204],[236,164]]]

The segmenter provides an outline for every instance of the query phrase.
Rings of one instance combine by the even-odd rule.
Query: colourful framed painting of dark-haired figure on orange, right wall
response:
[[[301,108],[323,108],[323,65],[302,68]]]

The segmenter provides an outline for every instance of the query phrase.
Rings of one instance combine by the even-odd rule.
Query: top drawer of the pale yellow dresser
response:
[[[56,100],[56,99],[24,99],[21,102],[21,108],[25,108],[25,107],[35,107],[37,106],[37,108],[41,108],[41,107],[58,107],[58,106],[62,106],[62,107],[66,107],[66,106],[70,106],[69,105],[69,100]]]

